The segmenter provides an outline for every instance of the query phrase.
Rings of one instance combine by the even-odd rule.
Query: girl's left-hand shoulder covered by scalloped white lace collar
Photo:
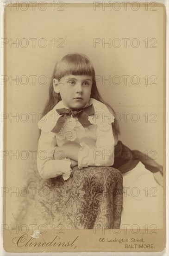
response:
[[[38,121],[38,128],[44,132],[50,132],[59,118],[59,114],[56,112],[56,106],[50,110],[43,118]]]

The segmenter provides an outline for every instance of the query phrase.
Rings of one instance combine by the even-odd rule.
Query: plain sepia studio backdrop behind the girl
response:
[[[43,7],[43,6],[42,6]],[[133,11],[109,10],[101,7],[94,10],[93,5],[86,6],[56,6],[50,5],[44,11],[35,7],[28,10],[6,8],[6,111],[9,116],[19,115],[16,119],[7,118],[6,149],[6,184],[8,187],[24,187],[24,172],[31,161],[32,150],[38,146],[38,115],[43,112],[48,98],[51,75],[56,64],[64,54],[78,52],[86,54],[92,61],[97,79],[98,89],[103,99],[107,101],[116,113],[121,116],[119,128],[121,140],[131,149],[138,149],[155,158],[163,165],[163,7],[156,11],[145,11],[145,7]],[[94,47],[94,38],[99,44]],[[125,39],[127,45],[125,47]],[[25,41],[23,39],[26,39]],[[32,47],[34,39],[34,47]],[[37,40],[36,40],[37,39]],[[41,47],[38,45],[40,39]],[[111,39],[111,40],[110,40]],[[113,39],[118,39],[113,41]],[[132,41],[132,39],[137,39]],[[156,43],[152,47],[153,43]],[[10,45],[19,40],[19,45]],[[111,41],[111,46],[102,44]],[[25,42],[29,44],[25,46]],[[53,45],[55,41],[55,46]],[[121,42],[120,47],[116,46]],[[138,47],[132,47],[139,41]],[[63,43],[61,45],[61,43]],[[148,45],[146,45],[148,43]],[[20,46],[22,45],[22,47]],[[128,75],[127,83],[122,76]],[[10,77],[11,76],[11,77]],[[16,84],[16,76],[25,78]],[[34,76],[34,84],[32,83]],[[45,76],[44,85],[38,82],[40,76]],[[103,82],[103,76],[119,76],[121,83],[109,84]],[[132,84],[131,77],[138,76],[139,84]],[[145,77],[148,84],[145,84]],[[156,76],[156,85],[153,77]],[[150,78],[151,77],[151,78]],[[133,80],[136,83],[136,80]],[[43,78],[40,81],[44,83]],[[27,83],[27,84],[23,84]],[[115,80],[118,83],[118,80]],[[12,113],[12,114],[11,114]],[[17,114],[19,113],[19,114]],[[26,113],[27,115],[23,115]],[[31,114],[34,113],[34,114]],[[122,114],[123,113],[123,114]],[[126,113],[126,114],[125,114]],[[133,115],[133,113],[137,113]],[[155,113],[155,114],[154,114]],[[25,118],[27,118],[27,121]],[[32,119],[34,116],[34,120]],[[132,119],[133,117],[133,119]],[[139,118],[136,121],[137,117]],[[127,118],[127,119],[126,119]],[[134,121],[133,121],[134,120]],[[10,152],[11,150],[11,152]],[[26,150],[28,157],[12,155],[16,150]],[[11,153],[11,154],[10,154]],[[21,159],[21,158],[26,158]],[[36,158],[36,152],[35,152]],[[8,196],[8,195],[7,195]],[[8,198],[7,216],[12,213],[13,197]]]

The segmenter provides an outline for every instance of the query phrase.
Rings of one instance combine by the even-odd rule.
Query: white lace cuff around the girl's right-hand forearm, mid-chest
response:
[[[77,154],[77,159],[78,159],[78,168],[82,169],[83,167],[88,167],[90,147],[84,142],[81,142],[80,146],[81,148]]]

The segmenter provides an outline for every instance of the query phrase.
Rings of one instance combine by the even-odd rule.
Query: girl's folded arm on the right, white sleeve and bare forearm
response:
[[[55,159],[68,157],[78,162],[78,167],[112,166],[114,162],[114,137],[112,124],[107,123],[106,130],[96,128],[97,141],[95,148],[86,143],[80,145],[72,142],[55,149]]]

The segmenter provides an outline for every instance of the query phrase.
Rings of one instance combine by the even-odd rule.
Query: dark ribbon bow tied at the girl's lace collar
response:
[[[94,106],[93,104],[81,109],[70,109],[70,108],[59,108],[56,109],[59,115],[59,119],[56,122],[55,127],[51,130],[53,133],[58,133],[63,127],[63,124],[66,120],[66,117],[72,115],[73,117],[77,116],[77,119],[83,127],[88,127],[91,123],[88,121],[89,115],[94,115]]]

